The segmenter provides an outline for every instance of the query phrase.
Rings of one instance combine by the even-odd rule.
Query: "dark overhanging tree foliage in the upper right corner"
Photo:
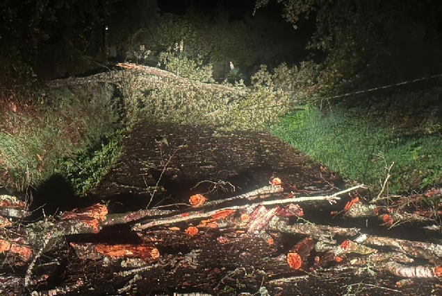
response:
[[[270,0],[256,1],[256,10]],[[294,26],[314,17],[308,49],[325,53],[324,65],[346,87],[409,80],[440,71],[440,1],[279,0]],[[429,58],[431,57],[431,58]]]

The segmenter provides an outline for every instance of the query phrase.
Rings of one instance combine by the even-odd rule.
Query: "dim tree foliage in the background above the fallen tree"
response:
[[[189,60],[211,63],[213,78],[220,81],[227,78],[230,61],[245,76],[240,79],[247,80],[252,67],[260,63],[299,60],[302,44],[305,43],[295,39],[291,26],[270,17],[247,16],[243,21],[232,21],[229,11],[222,6],[218,6],[211,17],[192,7],[183,17],[165,14],[149,26],[132,33],[126,42],[128,49],[124,51],[129,53],[126,59],[138,61],[140,46],[149,48],[152,54],[143,64],[152,66],[161,62],[160,53],[173,51],[174,44],[181,42],[181,55]],[[237,78],[233,80],[240,80]]]

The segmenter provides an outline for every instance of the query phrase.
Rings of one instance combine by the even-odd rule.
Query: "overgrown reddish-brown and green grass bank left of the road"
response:
[[[76,193],[90,190],[120,153],[114,91],[113,85],[90,84],[45,89],[28,103],[5,100],[1,110],[5,121],[0,123],[0,186],[23,192],[60,173],[72,181]],[[74,170],[69,163],[83,171]],[[81,182],[85,183],[79,185]]]

